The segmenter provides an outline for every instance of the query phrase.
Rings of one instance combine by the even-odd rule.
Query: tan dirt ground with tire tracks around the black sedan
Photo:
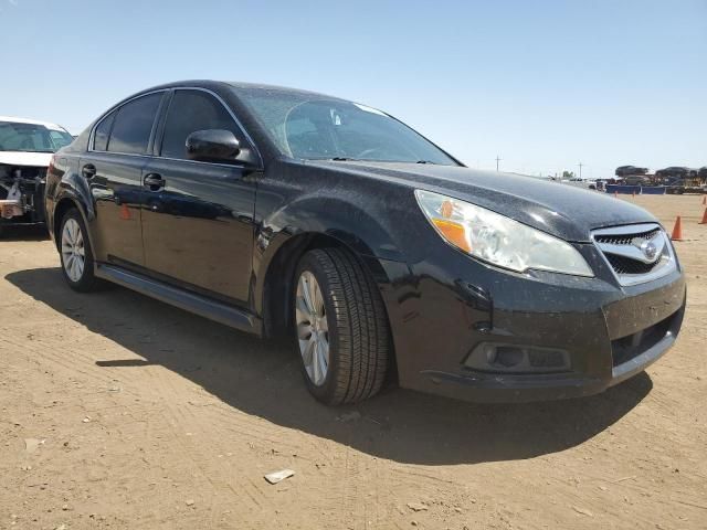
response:
[[[118,287],[77,295],[49,240],[10,234],[0,528],[707,528],[705,206],[618,200],[683,215],[677,344],[604,394],[524,405],[387,389],[329,409],[286,343]]]

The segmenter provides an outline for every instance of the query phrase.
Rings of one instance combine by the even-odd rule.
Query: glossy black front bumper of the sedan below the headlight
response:
[[[580,245],[581,246],[581,245]],[[593,245],[594,278],[506,273],[449,247],[413,266],[381,261],[403,388],[483,402],[591,395],[643,371],[675,342],[686,287],[677,269],[622,287]],[[560,373],[469,368],[484,343],[566,352]]]

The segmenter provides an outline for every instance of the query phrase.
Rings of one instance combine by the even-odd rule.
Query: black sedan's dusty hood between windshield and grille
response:
[[[600,227],[658,222],[642,208],[606,193],[534,177],[429,163],[307,165],[443,193],[572,242],[590,242],[591,231]]]

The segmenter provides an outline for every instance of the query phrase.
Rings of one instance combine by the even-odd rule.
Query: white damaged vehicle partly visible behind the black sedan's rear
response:
[[[59,125],[0,116],[0,234],[7,225],[44,223],[46,168],[72,141]]]

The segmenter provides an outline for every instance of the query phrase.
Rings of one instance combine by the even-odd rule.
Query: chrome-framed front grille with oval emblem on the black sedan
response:
[[[657,224],[602,229],[592,236],[621,285],[650,282],[675,268],[669,241]]]

